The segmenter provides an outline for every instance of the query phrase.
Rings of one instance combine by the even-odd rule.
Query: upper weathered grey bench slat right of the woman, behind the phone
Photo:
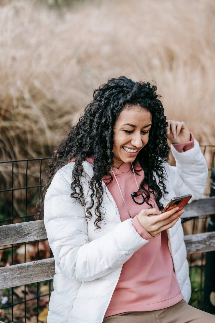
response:
[[[200,199],[185,205],[181,218],[197,217],[200,215],[215,214],[215,196]]]

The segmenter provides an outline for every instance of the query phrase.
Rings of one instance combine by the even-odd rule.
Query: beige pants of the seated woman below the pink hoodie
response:
[[[149,312],[125,312],[103,319],[104,323],[215,323],[215,316],[181,302]]]

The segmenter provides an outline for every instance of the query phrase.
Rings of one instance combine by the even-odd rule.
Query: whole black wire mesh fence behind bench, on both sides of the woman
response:
[[[205,196],[210,195],[210,174],[215,145],[201,146],[208,163]],[[48,158],[0,162],[0,226],[43,219],[36,203],[41,194],[41,176]],[[207,231],[209,216],[183,223],[184,234]],[[52,257],[48,241],[40,240],[0,247],[0,266],[10,266]],[[203,308],[205,253],[188,256],[192,295],[190,304]],[[5,323],[46,322],[53,280],[0,290],[0,320]]]

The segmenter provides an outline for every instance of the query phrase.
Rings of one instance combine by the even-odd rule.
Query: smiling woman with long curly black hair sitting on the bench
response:
[[[184,211],[160,214],[174,196],[200,198],[207,165],[185,123],[163,112],[155,85],[110,79],[55,151],[44,190],[56,272],[48,323],[215,321],[187,305]]]

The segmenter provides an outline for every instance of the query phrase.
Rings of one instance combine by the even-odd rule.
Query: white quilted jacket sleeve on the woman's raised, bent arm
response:
[[[198,141],[195,140],[194,147],[188,151],[178,152],[172,145],[171,150],[176,166],[169,166],[167,174],[174,192],[177,196],[191,193],[189,203],[199,199],[204,194],[208,167]]]

